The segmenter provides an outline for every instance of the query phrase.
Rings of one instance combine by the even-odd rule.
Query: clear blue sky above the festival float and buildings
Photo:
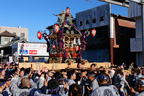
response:
[[[37,39],[38,30],[56,23],[57,17],[66,7],[70,7],[71,14],[97,7],[103,4],[97,0],[0,0],[0,26],[28,28],[29,41],[45,42]],[[127,16],[127,8],[117,5],[111,6],[112,13]],[[48,33],[48,31],[47,31]]]

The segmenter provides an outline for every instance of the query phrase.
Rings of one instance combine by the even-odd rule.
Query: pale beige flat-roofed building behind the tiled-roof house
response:
[[[21,28],[20,26],[18,28],[0,26],[0,33],[6,30],[18,37],[25,37],[28,40],[28,28]]]

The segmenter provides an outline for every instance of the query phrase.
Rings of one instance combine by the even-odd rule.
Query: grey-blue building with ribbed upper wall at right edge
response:
[[[138,4],[135,2],[129,2],[128,16],[129,18],[136,19],[136,35],[130,40],[130,51],[136,54],[136,64],[139,66],[144,66],[144,58],[143,58],[143,12],[142,4]]]

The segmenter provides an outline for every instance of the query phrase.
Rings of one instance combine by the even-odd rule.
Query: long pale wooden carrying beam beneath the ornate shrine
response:
[[[90,65],[93,64],[91,63],[85,63],[86,68],[90,68]],[[96,64],[96,67],[99,68],[100,66],[103,66],[105,68],[108,68],[111,66],[110,62],[94,62]],[[65,68],[77,68],[77,63],[72,63],[71,65],[68,65],[67,63],[43,63],[43,62],[22,62],[19,63],[19,68],[29,68],[32,67],[34,70],[39,70],[42,67],[47,67],[49,70],[60,70],[60,69],[65,69]]]

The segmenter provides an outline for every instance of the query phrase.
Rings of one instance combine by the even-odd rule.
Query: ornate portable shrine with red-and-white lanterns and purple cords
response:
[[[77,63],[82,61],[82,52],[86,49],[86,40],[89,31],[81,32],[72,23],[73,16],[69,7],[58,16],[57,24],[53,25],[50,34],[46,31],[38,31],[39,39],[42,37],[47,42],[47,52],[49,52],[49,63]],[[96,30],[91,31],[94,37]]]

